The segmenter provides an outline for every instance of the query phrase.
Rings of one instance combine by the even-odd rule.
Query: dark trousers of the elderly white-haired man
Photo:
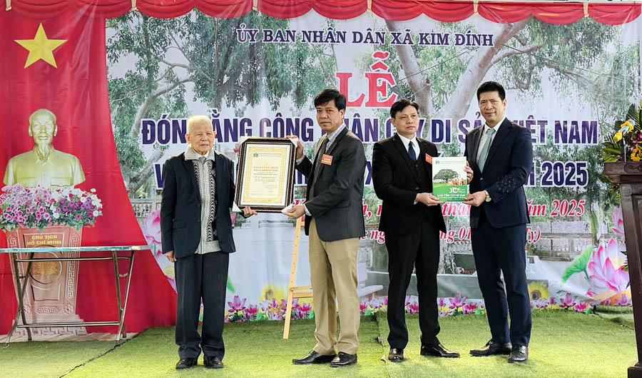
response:
[[[210,252],[176,260],[178,290],[176,344],[180,358],[198,358],[201,349],[208,357],[223,359],[225,289],[230,255]],[[200,301],[203,299],[203,337],[198,334]]]

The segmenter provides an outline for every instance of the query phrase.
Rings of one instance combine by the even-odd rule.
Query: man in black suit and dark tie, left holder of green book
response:
[[[372,153],[374,191],[383,201],[379,230],[385,233],[388,250],[388,359],[392,362],[404,361],[408,344],[404,307],[413,267],[417,268],[420,353],[459,357],[437,339],[439,230],[446,232],[446,225],[442,203],[432,195],[432,163],[428,161],[429,156],[439,154],[433,143],[417,138],[418,111],[417,103],[395,102],[390,117],[397,133],[375,143]]]

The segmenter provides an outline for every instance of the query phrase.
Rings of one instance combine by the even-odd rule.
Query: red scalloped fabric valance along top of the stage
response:
[[[12,11],[24,16],[50,18],[70,8],[91,6],[91,14],[112,18],[131,10],[131,0],[12,0]],[[198,8],[208,16],[230,19],[247,14],[253,0],[137,0],[138,11],[169,19]],[[367,11],[368,0],[258,0],[258,10],[277,19],[292,19],[314,10],[330,19],[352,19]],[[571,24],[584,17],[584,4],[514,3],[480,1],[480,16],[507,24],[534,16],[549,24]],[[456,22],[474,14],[472,1],[372,0],[372,12],[387,20],[404,21],[425,14],[442,22]],[[588,16],[608,25],[637,19],[641,4],[589,4]]]

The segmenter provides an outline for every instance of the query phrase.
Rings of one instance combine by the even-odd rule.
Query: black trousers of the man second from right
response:
[[[439,312],[437,311],[437,269],[439,268],[439,230],[422,220],[408,234],[386,234],[388,250],[388,344],[403,349],[408,344],[406,327],[406,291],[417,268],[419,294],[419,328],[422,345],[439,344]]]

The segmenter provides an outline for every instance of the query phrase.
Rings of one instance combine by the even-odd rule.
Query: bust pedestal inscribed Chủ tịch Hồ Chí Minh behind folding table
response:
[[[83,230],[68,226],[17,228],[5,231],[9,248],[79,247]],[[29,258],[30,253],[18,253],[17,258]],[[34,258],[78,257],[80,252],[40,252]],[[19,273],[25,275],[29,263],[19,262]],[[14,265],[11,265],[13,272]],[[16,274],[16,272],[13,272]],[[76,314],[76,285],[78,261],[34,262],[24,287],[24,310],[27,323],[81,322]],[[86,334],[85,327],[42,327],[34,334]]]

